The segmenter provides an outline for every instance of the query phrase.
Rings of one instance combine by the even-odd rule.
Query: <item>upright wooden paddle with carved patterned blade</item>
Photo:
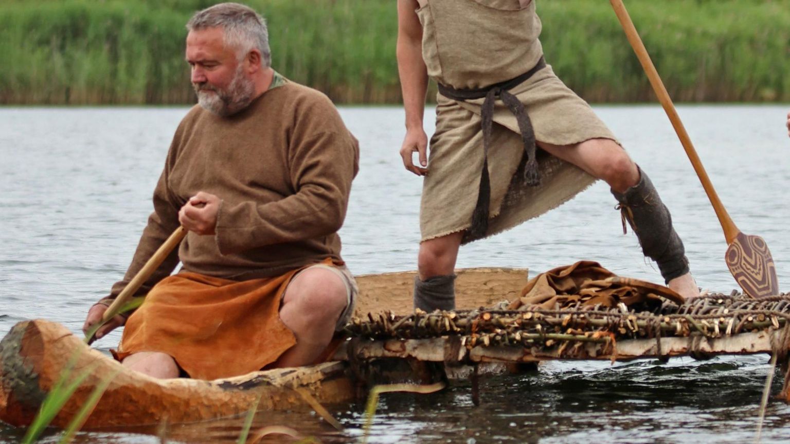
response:
[[[664,107],[664,111],[667,112],[667,116],[675,128],[675,133],[678,134],[680,143],[683,144],[683,149],[686,150],[691,165],[694,166],[694,171],[697,172],[699,180],[702,182],[702,187],[705,188],[705,194],[708,194],[710,203],[716,211],[721,228],[724,230],[724,239],[727,239],[729,245],[724,258],[727,261],[730,273],[735,277],[740,287],[743,288],[743,292],[746,292],[747,295],[751,295],[753,298],[778,295],[777,269],[773,265],[773,258],[768,250],[766,241],[760,236],[744,235],[732,222],[730,215],[719,200],[716,190],[713,189],[713,184],[710,182],[705,168],[702,167],[702,160],[699,159],[697,152],[694,150],[694,145],[691,145],[686,128],[683,127],[683,122],[680,122],[680,117],[675,111],[675,105],[672,104],[667,88],[664,88],[664,82],[658,76],[656,67],[653,66],[645,45],[639,38],[634,22],[631,21],[631,17],[626,11],[626,6],[623,5],[623,0],[609,1],[615,9],[620,24],[623,25],[623,31],[626,32],[626,37],[628,37],[631,47],[634,48],[634,52],[647,74],[650,85],[653,85],[653,91],[656,92],[656,96],[658,96],[658,100]]]

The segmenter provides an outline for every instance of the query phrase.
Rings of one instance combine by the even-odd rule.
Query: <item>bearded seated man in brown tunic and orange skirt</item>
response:
[[[117,359],[158,378],[213,379],[314,363],[353,311],[340,258],[359,163],[329,99],[271,67],[265,21],[223,3],[186,25],[199,106],[180,123],[134,259],[84,329],[179,224],[179,250],[141,287]],[[169,276],[178,262],[179,273]]]

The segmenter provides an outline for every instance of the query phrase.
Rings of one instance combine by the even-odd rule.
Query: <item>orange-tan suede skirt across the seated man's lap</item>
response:
[[[198,379],[261,370],[296,344],[280,321],[280,300],[300,270],[240,282],[198,273],[167,277],[126,321],[115,358],[166,353]]]

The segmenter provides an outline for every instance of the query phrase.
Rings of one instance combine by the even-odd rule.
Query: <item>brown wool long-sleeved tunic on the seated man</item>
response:
[[[179,227],[198,191],[222,203],[216,235],[191,232],[141,287],[145,295],[179,260],[182,273],[224,280],[280,276],[326,258],[340,237],[359,147],[321,92],[287,81],[222,118],[193,107],[175,132],[153,195],[154,212],[115,298]]]

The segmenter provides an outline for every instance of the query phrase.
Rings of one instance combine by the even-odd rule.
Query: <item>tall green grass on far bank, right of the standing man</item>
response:
[[[790,2],[625,3],[675,100],[790,100]],[[609,2],[538,5],[547,60],[571,88],[598,102],[653,100]]]

